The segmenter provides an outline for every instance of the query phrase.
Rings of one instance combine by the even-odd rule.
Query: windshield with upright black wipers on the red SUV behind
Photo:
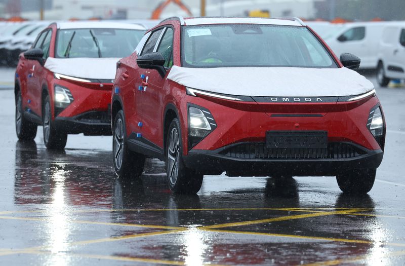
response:
[[[144,33],[133,29],[61,29],[55,57],[126,57],[134,52]]]

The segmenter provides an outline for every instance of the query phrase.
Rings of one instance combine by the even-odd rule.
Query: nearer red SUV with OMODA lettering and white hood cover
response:
[[[373,84],[296,18],[169,18],[117,65],[114,167],[166,162],[173,192],[203,176],[336,176],[367,193],[385,122]]]

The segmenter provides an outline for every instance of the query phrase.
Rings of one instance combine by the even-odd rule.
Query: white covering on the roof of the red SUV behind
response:
[[[145,30],[145,27],[137,24],[104,22],[104,21],[71,21],[57,22],[58,29],[80,29],[80,28],[114,28],[114,29],[139,29]]]

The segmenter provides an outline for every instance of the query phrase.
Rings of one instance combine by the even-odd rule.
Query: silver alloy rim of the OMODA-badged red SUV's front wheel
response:
[[[179,134],[176,128],[170,132],[168,145],[168,175],[171,185],[176,184],[179,174],[180,143]]]

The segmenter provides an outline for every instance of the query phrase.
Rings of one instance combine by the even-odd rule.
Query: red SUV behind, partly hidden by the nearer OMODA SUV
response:
[[[20,55],[16,69],[16,131],[33,139],[44,126],[48,148],[63,148],[67,134],[110,135],[109,103],[116,62],[144,34],[139,25],[54,23]]]

